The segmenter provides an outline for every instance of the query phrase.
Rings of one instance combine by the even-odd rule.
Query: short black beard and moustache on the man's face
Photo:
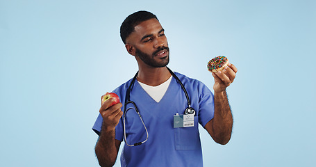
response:
[[[161,47],[160,49],[157,49],[156,51],[153,51],[153,54],[145,54],[144,52],[140,51],[140,49],[135,48],[135,54],[138,56],[145,64],[151,66],[151,67],[165,67],[169,64],[169,47]],[[156,61],[154,57],[159,51],[167,50],[168,55],[160,58],[161,61]]]

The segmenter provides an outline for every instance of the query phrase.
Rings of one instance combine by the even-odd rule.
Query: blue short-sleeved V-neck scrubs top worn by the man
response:
[[[196,111],[194,127],[173,127],[174,115],[184,114],[188,107],[185,93],[174,77],[163,99],[158,103],[135,81],[130,99],[138,106],[149,138],[146,143],[139,146],[124,145],[121,155],[122,166],[203,166],[198,122],[205,127],[206,123],[213,119],[214,96],[201,81],[190,79],[177,72],[175,74],[185,86],[191,106]],[[119,95],[122,103],[125,102],[126,90],[131,80],[113,91]],[[126,106],[126,109],[129,106],[130,104]],[[122,111],[123,109],[124,106]],[[92,127],[94,132],[99,134],[102,121],[99,115]],[[126,112],[127,143],[132,145],[146,138],[147,134],[140,117],[133,109],[128,110]],[[124,141],[123,118],[115,127],[115,139]]]

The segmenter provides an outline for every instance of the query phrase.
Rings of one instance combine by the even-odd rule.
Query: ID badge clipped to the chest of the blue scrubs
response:
[[[194,114],[174,115],[174,128],[194,127]]]

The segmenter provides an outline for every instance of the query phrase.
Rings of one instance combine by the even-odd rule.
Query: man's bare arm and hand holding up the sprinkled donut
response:
[[[231,139],[233,116],[228,103],[226,88],[235,79],[237,68],[231,63],[222,72],[213,73],[214,118],[206,123],[205,128],[215,142],[225,145]]]

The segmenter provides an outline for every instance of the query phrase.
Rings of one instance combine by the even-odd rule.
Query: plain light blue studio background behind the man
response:
[[[158,16],[169,67],[213,90],[206,64],[238,67],[233,136],[201,128],[204,166],[315,166],[315,1],[0,1],[0,166],[98,166],[100,97],[138,70],[119,38]],[[122,144],[123,145],[123,144]],[[116,166],[119,166],[117,162]]]

